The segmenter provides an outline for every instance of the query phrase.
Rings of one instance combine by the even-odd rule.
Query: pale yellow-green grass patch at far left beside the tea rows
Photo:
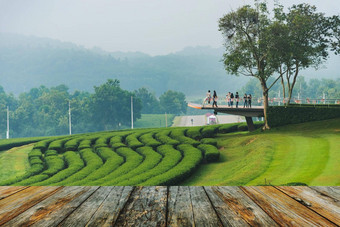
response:
[[[25,173],[29,168],[27,154],[32,147],[24,145],[0,152],[0,181]]]

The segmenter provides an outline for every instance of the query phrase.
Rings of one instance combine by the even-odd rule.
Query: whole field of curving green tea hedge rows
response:
[[[29,152],[24,175],[0,185],[176,185],[201,163],[218,161],[217,133],[237,130],[244,124],[48,138]]]

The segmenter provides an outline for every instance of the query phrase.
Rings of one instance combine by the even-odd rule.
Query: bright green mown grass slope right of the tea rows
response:
[[[340,185],[340,119],[219,136],[218,163],[183,185]]]

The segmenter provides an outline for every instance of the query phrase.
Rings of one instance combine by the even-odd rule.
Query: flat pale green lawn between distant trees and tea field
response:
[[[167,127],[172,125],[174,114],[167,114]],[[142,114],[142,118],[138,119],[135,128],[162,128],[165,127],[165,114]]]

